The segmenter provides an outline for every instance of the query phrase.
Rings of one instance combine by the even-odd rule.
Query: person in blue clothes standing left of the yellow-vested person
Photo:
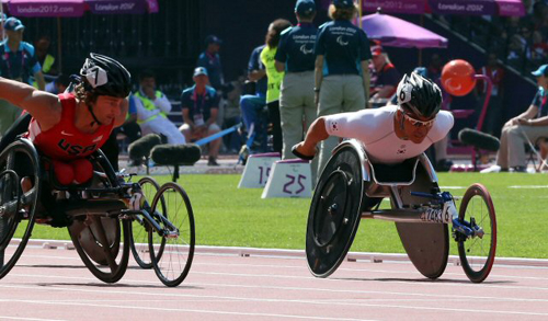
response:
[[[266,149],[266,114],[263,113],[266,106],[266,70],[261,61],[261,53],[266,45],[261,45],[253,49],[248,62],[248,79],[254,82],[254,92],[240,98],[240,108],[243,116],[243,124],[248,129],[249,148],[253,151],[253,142],[258,141],[262,151]],[[258,139],[258,140],[255,140]]]

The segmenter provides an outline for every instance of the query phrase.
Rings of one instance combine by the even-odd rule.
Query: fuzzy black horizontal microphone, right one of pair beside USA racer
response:
[[[152,148],[150,157],[159,165],[194,164],[202,157],[202,150],[195,144],[163,144]]]

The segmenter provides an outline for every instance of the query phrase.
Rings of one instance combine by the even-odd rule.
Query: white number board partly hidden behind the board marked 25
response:
[[[238,188],[262,188],[266,185],[272,164],[282,158],[279,152],[250,154]]]

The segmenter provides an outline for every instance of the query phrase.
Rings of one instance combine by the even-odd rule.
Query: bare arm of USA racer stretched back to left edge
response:
[[[0,98],[27,111],[42,128],[50,128],[61,118],[59,98],[26,83],[0,77]]]

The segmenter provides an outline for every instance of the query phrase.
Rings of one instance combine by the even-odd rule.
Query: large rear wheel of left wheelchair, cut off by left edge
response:
[[[25,193],[23,177],[30,187]],[[39,183],[38,154],[28,140],[18,140],[0,153],[0,278],[15,265],[31,238]]]

